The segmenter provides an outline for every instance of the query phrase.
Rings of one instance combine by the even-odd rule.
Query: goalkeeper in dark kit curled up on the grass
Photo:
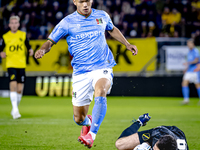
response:
[[[138,132],[150,120],[143,114],[125,129],[115,145],[119,150],[189,150],[185,134],[176,126],[159,126]]]

